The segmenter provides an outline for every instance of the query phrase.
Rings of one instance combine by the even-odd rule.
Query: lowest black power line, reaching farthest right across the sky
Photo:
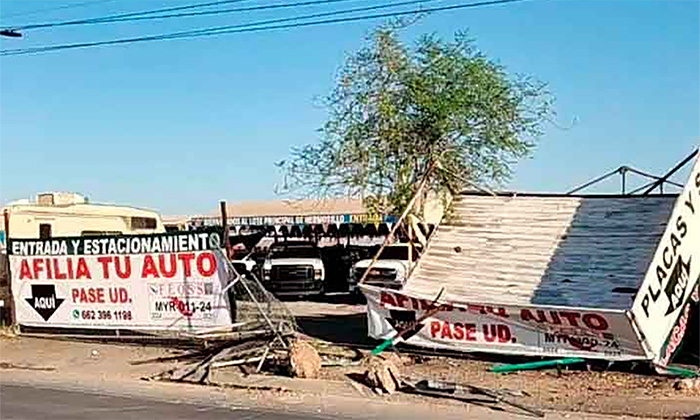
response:
[[[448,11],[448,10],[467,9],[467,8],[475,8],[475,7],[481,7],[481,6],[493,6],[493,5],[499,5],[499,4],[517,3],[517,2],[522,2],[522,1],[526,1],[526,0],[489,0],[489,1],[468,3],[468,4],[457,4],[457,5],[432,7],[432,8],[421,8],[421,9],[413,9],[413,10],[405,10],[405,11],[397,11],[397,12],[377,13],[377,14],[370,14],[370,15],[346,17],[346,18],[314,20],[311,22],[297,22],[297,23],[276,24],[276,25],[273,24],[273,23],[279,23],[282,21],[303,20],[303,19],[311,19],[314,17],[317,18],[317,17],[319,17],[319,15],[329,15],[329,14],[337,15],[337,14],[342,14],[342,13],[357,12],[359,9],[366,10],[366,9],[380,9],[380,8],[386,8],[386,7],[398,7],[400,5],[407,5],[407,4],[411,4],[411,3],[414,3],[414,4],[415,3],[423,3],[426,1],[433,1],[433,0],[414,0],[414,1],[407,1],[407,2],[402,2],[402,3],[394,3],[391,5],[381,5],[381,6],[373,6],[373,7],[368,7],[368,8],[349,9],[349,10],[344,10],[344,11],[328,12],[328,13],[324,13],[324,14],[297,16],[297,17],[292,17],[292,18],[275,19],[275,20],[271,20],[271,21],[253,22],[253,23],[248,23],[248,24],[223,26],[223,27],[218,27],[218,28],[208,28],[208,29],[201,29],[201,30],[195,30],[195,31],[174,32],[174,33],[169,33],[169,34],[161,34],[161,35],[153,35],[153,36],[145,36],[145,37],[137,37],[137,38],[122,38],[122,39],[115,39],[115,40],[109,40],[109,41],[86,42],[86,43],[63,44],[63,45],[49,45],[49,46],[45,46],[45,47],[18,48],[18,49],[11,49],[11,50],[2,50],[2,51],[0,51],[0,55],[36,54],[36,53],[60,51],[60,50],[66,50],[66,49],[78,49],[78,48],[89,48],[89,47],[106,46],[106,45],[130,44],[130,43],[136,43],[136,42],[161,41],[161,40],[171,40],[171,39],[180,39],[180,38],[195,38],[195,37],[232,34],[232,33],[261,32],[261,31],[278,30],[278,29],[292,29],[292,28],[307,27],[307,26],[318,26],[318,25],[327,25],[327,24],[334,24],[334,23],[357,22],[357,21],[364,21],[364,20],[374,20],[374,19],[384,19],[384,18],[392,18],[392,17],[400,17],[400,16],[408,16],[408,15],[417,15],[417,14],[423,14],[423,13],[443,12],[443,11]]]

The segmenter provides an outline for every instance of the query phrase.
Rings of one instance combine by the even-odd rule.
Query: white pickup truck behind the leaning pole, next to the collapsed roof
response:
[[[384,248],[381,255],[374,263],[367,274],[365,284],[384,287],[387,289],[400,289],[406,284],[409,273],[415,266],[420,256],[420,247],[413,245],[411,250],[411,261],[409,262],[409,247],[411,244],[397,243]],[[372,263],[372,259],[360,260],[356,262],[350,275],[348,276],[349,289],[353,293],[359,292],[357,287],[362,275],[367,271],[367,267]]]

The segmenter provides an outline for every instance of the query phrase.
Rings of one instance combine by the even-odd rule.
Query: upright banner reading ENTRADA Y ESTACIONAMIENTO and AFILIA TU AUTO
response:
[[[231,324],[214,232],[10,240],[17,323],[194,332]]]

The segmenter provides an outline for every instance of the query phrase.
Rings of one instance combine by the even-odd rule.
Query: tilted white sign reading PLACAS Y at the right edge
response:
[[[700,159],[678,196],[632,314],[658,364],[668,363],[668,340],[700,281]],[[677,335],[677,334],[676,334]]]

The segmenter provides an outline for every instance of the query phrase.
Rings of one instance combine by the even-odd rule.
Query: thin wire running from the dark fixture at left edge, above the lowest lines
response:
[[[53,28],[59,26],[74,26],[74,25],[94,25],[94,24],[104,24],[104,23],[115,23],[115,22],[132,22],[139,20],[156,20],[156,19],[171,19],[171,18],[181,18],[181,17],[192,17],[192,16],[207,16],[207,15],[220,15],[225,13],[235,13],[235,12],[253,12],[259,10],[271,10],[271,9],[286,9],[302,6],[314,6],[320,4],[331,4],[339,2],[347,2],[355,0],[308,0],[296,3],[278,3],[278,4],[267,4],[263,6],[251,6],[251,7],[237,7],[232,9],[218,9],[218,10],[205,10],[199,12],[186,12],[186,13],[172,13],[156,16],[127,16],[127,17],[103,17],[94,19],[83,19],[75,21],[65,21],[56,23],[43,23],[35,25],[25,25],[13,27],[12,30],[29,30],[29,29],[40,29],[40,28]],[[8,28],[9,29],[9,28]]]

